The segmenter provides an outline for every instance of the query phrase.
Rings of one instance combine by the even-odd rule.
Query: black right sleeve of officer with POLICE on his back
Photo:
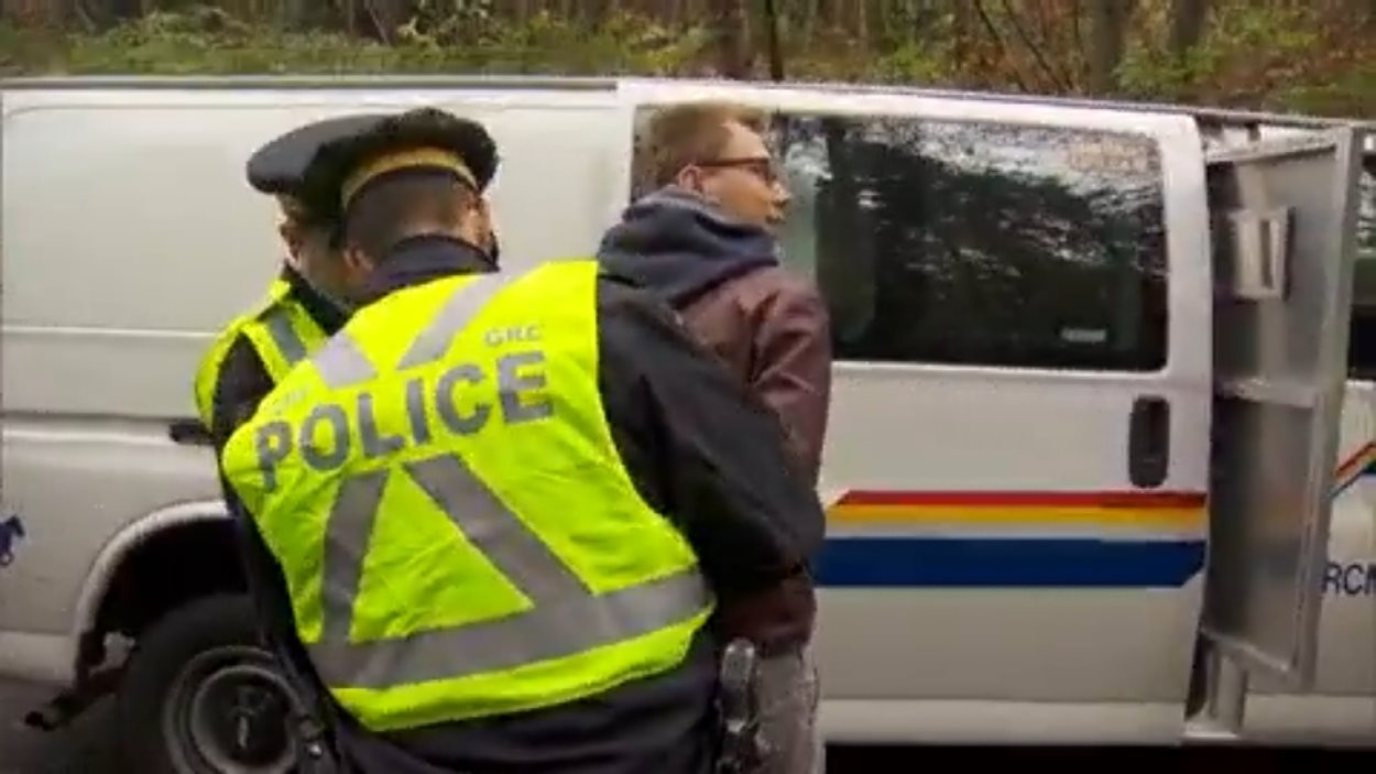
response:
[[[648,295],[603,280],[599,322],[603,405],[622,459],[716,591],[735,596],[806,566],[826,519],[776,415]]]

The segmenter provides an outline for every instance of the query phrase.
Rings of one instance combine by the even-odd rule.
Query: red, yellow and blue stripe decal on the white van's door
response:
[[[848,492],[817,561],[837,588],[1176,588],[1204,567],[1203,493]]]

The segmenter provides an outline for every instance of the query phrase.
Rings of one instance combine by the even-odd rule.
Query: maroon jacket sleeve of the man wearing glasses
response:
[[[831,324],[826,302],[783,271],[755,308],[750,387],[783,421],[790,456],[816,485],[831,404]]]

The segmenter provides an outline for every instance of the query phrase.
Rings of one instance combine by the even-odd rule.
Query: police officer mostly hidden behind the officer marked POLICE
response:
[[[253,413],[272,386],[347,320],[343,264],[330,247],[334,223],[327,215],[305,205],[301,198],[301,176],[319,143],[358,131],[377,118],[378,116],[351,116],[308,124],[268,142],[248,161],[249,185],[278,200],[283,216],[279,233],[289,258],[259,304],[220,332],[195,375],[197,410],[217,453],[223,450],[234,427]],[[228,488],[226,496],[233,501],[234,493]],[[281,583],[261,580],[275,572],[275,565],[257,533],[244,529],[245,526],[239,523],[235,530],[239,555],[259,609],[260,624],[270,623],[275,616],[268,611],[290,610],[289,600],[272,594]],[[260,625],[260,636],[278,657],[278,662],[288,667],[289,682],[297,698],[304,697],[311,702],[318,687],[311,684],[308,675],[290,671],[290,627]],[[297,731],[296,741],[304,745],[308,740],[303,740],[303,734],[311,735],[304,729],[322,720],[314,715],[311,704],[301,705],[300,709],[301,718],[292,724],[292,730]],[[268,730],[278,722],[286,722],[286,718],[257,720],[252,724],[253,729]],[[238,744],[248,748],[253,740],[239,740]],[[300,755],[301,751],[299,757]]]

